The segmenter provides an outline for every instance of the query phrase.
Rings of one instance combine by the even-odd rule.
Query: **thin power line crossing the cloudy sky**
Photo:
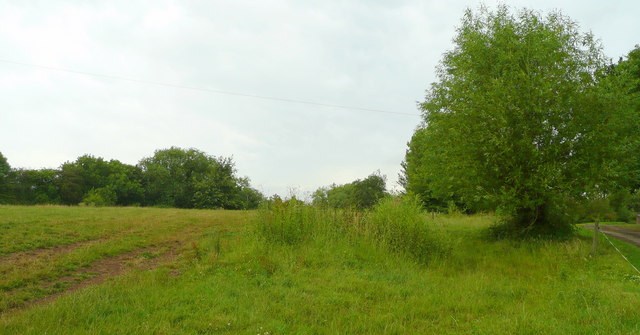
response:
[[[7,63],[7,64],[14,64],[14,65],[21,65],[21,66],[39,68],[39,69],[44,69],[44,70],[49,70],[49,71],[59,71],[59,72],[73,73],[73,74],[89,76],[89,77],[113,79],[113,80],[122,80],[122,81],[128,81],[128,82],[132,82],[132,83],[147,84],[147,85],[157,85],[157,86],[172,87],[172,88],[180,88],[180,89],[185,89],[185,90],[194,90],[194,91],[216,93],[216,94],[226,94],[226,95],[233,95],[233,96],[246,97],[246,98],[271,100],[271,101],[280,101],[280,102],[288,102],[288,103],[298,103],[298,104],[314,105],[314,106],[321,106],[321,107],[350,109],[350,110],[357,110],[357,111],[364,111],[364,112],[375,112],[375,113],[396,114],[396,115],[420,116],[419,114],[394,112],[394,111],[388,111],[388,110],[383,110],[383,109],[373,109],[373,108],[363,108],[363,107],[346,106],[346,105],[336,105],[336,104],[329,104],[329,103],[322,103],[322,102],[315,102],[315,101],[308,101],[308,100],[278,98],[278,97],[270,97],[270,96],[264,96],[264,95],[241,93],[241,92],[216,90],[216,89],[203,88],[203,87],[187,86],[187,85],[180,85],[180,84],[171,84],[171,83],[164,83],[164,82],[159,82],[159,81],[126,78],[126,77],[113,76],[113,75],[101,74],[101,73],[95,73],[95,72],[85,72],[85,71],[71,70],[71,69],[65,69],[65,68],[59,68],[59,67],[53,67],[53,66],[44,66],[44,65],[16,62],[16,61],[7,60],[7,59],[0,59],[0,62]]]

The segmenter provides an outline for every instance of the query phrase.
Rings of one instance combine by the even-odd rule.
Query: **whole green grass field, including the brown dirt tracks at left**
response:
[[[256,217],[0,206],[0,334],[640,333],[640,276],[606,241],[589,257],[587,230],[425,217],[444,251],[421,262],[367,236],[273,243]]]

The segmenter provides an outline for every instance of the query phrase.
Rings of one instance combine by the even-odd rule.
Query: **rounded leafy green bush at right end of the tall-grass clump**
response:
[[[429,228],[417,196],[387,197],[373,207],[364,222],[369,238],[419,262],[427,262],[444,250]]]

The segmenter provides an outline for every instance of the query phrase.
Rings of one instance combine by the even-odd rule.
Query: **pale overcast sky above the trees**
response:
[[[510,1],[560,9],[617,59],[640,1]],[[14,168],[83,154],[136,164],[178,146],[233,156],[266,195],[376,170],[397,187],[416,102],[478,1],[0,1],[0,152]],[[485,4],[495,8],[495,1]],[[2,62],[388,114],[230,96]]]

